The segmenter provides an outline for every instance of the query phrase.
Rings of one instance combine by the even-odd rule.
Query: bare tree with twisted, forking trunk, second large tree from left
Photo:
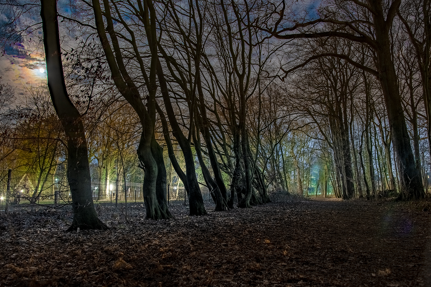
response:
[[[156,39],[156,14],[153,3],[147,0],[143,2],[138,1],[137,6],[130,6],[129,3],[117,3],[115,1],[109,3],[109,1],[105,0],[103,1],[103,12],[98,0],[93,0],[92,5],[97,33],[112,74],[112,80],[120,94],[131,104],[141,121],[142,133],[137,153],[143,168],[145,168],[143,193],[147,218],[170,218],[172,215],[167,209],[167,205],[164,204],[166,201],[166,167],[163,162],[163,150],[154,137],[156,123],[156,71],[159,59],[157,55],[157,42],[154,41]],[[143,28],[147,34],[148,45],[150,47],[149,68],[145,66],[144,58],[138,49],[138,45],[141,43],[138,42],[135,36],[134,27],[131,27],[128,21],[123,19],[123,17],[127,19],[125,13],[127,14],[128,12],[125,11],[129,10],[136,13],[135,16],[139,20],[139,28]],[[113,18],[111,11],[116,18]],[[105,16],[107,23],[106,29],[103,16]],[[113,24],[114,20],[124,27],[129,38],[126,38],[125,35],[117,34]],[[109,33],[109,38],[106,32]],[[131,49],[129,51],[134,55],[138,71],[141,72],[144,78],[148,91],[145,104],[141,99],[137,82],[131,76],[133,74],[126,68],[125,61],[127,56],[122,53],[120,39],[125,41],[127,45],[130,44]]]

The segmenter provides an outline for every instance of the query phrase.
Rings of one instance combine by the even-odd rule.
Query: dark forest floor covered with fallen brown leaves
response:
[[[108,231],[66,233],[70,210],[0,215],[0,286],[430,286],[428,202],[305,200],[145,220],[98,206]],[[124,212],[124,209],[123,209]]]

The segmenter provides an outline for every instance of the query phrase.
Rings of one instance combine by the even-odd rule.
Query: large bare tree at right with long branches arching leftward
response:
[[[283,1],[280,12],[276,12],[279,17],[275,20],[273,27],[263,29],[273,37],[284,40],[340,37],[362,44],[372,51],[375,67],[364,66],[351,59],[349,55],[338,53],[321,53],[310,57],[299,66],[305,66],[319,57],[336,56],[378,78],[383,91],[394,150],[397,155],[398,170],[401,175],[400,198],[405,200],[423,198],[422,180],[415,168],[397,73],[392,60],[390,32],[394,17],[400,9],[401,0],[355,0],[330,4],[319,11],[322,18],[289,25],[287,22],[282,23],[285,12],[285,2]],[[327,25],[322,27],[322,24]],[[292,31],[296,31],[296,33],[292,33]],[[290,70],[286,72],[290,72]]]

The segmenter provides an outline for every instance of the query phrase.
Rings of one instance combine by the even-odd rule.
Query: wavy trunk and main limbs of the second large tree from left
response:
[[[94,18],[97,27],[97,34],[103,47],[103,51],[108,62],[109,69],[111,71],[111,77],[114,81],[119,92],[122,96],[130,103],[138,115],[141,126],[141,138],[137,147],[137,155],[141,162],[142,167],[145,169],[144,173],[144,185],[143,185],[143,196],[146,206],[147,218],[150,219],[162,219],[168,218],[165,212],[160,208],[157,197],[156,197],[156,180],[157,180],[157,162],[153,158],[151,152],[151,140],[154,137],[154,126],[156,116],[156,64],[158,62],[157,49],[155,48],[156,43],[152,41],[152,37],[156,33],[156,12],[153,7],[153,3],[150,0],[143,1],[143,7],[140,6],[140,12],[143,13],[144,17],[144,28],[147,34],[147,40],[151,47],[151,63],[150,71],[147,72],[142,67],[143,61],[139,53],[135,53],[134,56],[137,61],[140,62],[141,72],[144,74],[145,84],[148,90],[148,100],[146,105],[141,100],[139,89],[136,87],[131,76],[128,74],[124,59],[122,56],[122,50],[119,46],[119,41],[116,31],[114,31],[113,20],[111,16],[111,6],[108,0],[103,0],[104,13],[106,23],[103,21],[102,10],[100,7],[99,0],[92,0]],[[106,28],[105,28],[106,27]],[[109,33],[110,41],[106,35]],[[136,44],[136,43],[135,43]],[[136,52],[136,51],[135,51]]]

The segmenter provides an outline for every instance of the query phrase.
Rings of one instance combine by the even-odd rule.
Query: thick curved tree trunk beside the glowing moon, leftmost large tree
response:
[[[72,104],[64,81],[56,0],[41,1],[42,28],[47,60],[48,88],[67,137],[67,179],[72,195],[73,221],[68,231],[108,227],[97,218],[91,192],[87,141],[78,109]]]

